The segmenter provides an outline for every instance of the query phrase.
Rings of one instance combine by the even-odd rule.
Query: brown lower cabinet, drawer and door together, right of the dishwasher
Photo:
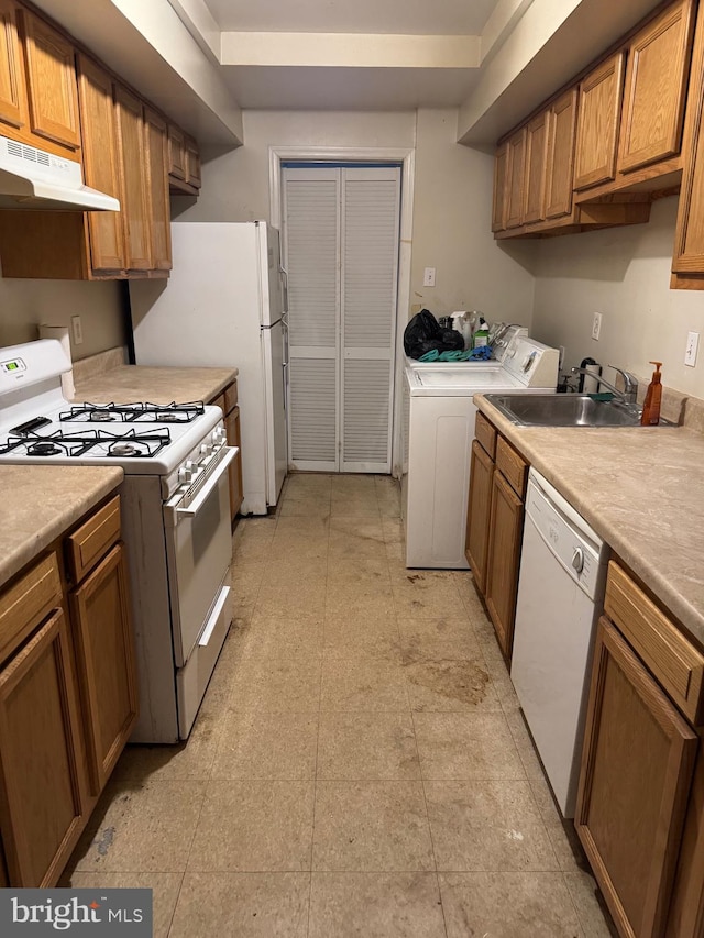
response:
[[[703,934],[704,766],[692,787],[703,662],[612,561],[574,824],[623,936]],[[684,688],[698,688],[696,698]]]

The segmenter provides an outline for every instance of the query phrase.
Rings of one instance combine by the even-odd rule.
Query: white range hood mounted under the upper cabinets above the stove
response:
[[[80,164],[0,136],[0,209],[120,211],[120,202],[84,186]]]

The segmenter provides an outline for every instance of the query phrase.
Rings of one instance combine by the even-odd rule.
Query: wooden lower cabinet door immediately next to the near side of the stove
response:
[[[91,793],[100,793],[138,716],[124,551],[117,544],[72,594]]]

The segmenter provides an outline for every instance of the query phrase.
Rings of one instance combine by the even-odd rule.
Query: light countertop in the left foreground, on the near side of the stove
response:
[[[0,585],[117,488],[119,466],[0,466]]]

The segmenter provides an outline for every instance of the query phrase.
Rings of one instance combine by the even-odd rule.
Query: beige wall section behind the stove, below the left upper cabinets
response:
[[[38,339],[38,324],[70,325],[76,314],[81,319],[84,341],[72,344],[74,361],[124,344],[118,284],[0,276],[0,347]]]

